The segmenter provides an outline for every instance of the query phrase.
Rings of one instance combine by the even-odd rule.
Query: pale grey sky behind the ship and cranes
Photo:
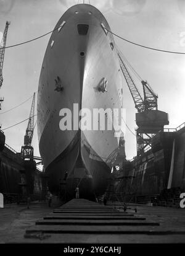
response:
[[[0,0],[0,39],[6,20],[10,20],[7,46],[24,42],[54,29],[68,7],[78,0]],[[79,1],[82,3],[83,1]],[[85,1],[88,3],[89,1]],[[109,22],[112,32],[133,42],[154,48],[185,53],[184,0],[90,0]],[[50,35],[25,45],[7,48],[3,66],[4,97],[0,110],[2,129],[29,117],[31,99],[14,110],[2,113],[24,102],[38,90],[39,73]],[[158,94],[158,109],[169,113],[170,125],[184,123],[185,55],[162,53],[131,45],[116,37],[120,50],[139,75]],[[138,84],[142,91],[141,84]],[[123,107],[126,123],[135,133],[135,113],[126,82],[123,81]],[[27,121],[4,131],[6,143],[20,152]],[[127,159],[136,156],[136,137],[125,132]],[[38,135],[33,135],[35,156],[39,156]]]

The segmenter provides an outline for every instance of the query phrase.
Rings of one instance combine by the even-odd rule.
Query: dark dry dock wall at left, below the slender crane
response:
[[[43,174],[35,161],[23,161],[9,146],[0,152],[0,193],[42,195]]]

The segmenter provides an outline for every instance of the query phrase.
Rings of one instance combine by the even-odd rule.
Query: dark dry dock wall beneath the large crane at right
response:
[[[171,185],[168,187],[170,172]],[[123,168],[122,174],[133,176],[133,179],[124,183],[124,193],[157,195],[167,188],[179,188],[185,192],[185,127],[179,131],[155,135],[152,149],[131,161],[130,169]]]

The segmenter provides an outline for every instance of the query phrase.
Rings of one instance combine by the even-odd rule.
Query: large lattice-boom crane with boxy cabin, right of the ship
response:
[[[164,125],[169,124],[168,114],[158,110],[157,94],[149,86],[148,82],[139,76],[119,50],[118,58],[121,71],[133,97],[135,107],[138,110],[138,113],[136,113],[136,125],[138,125],[136,130],[137,156],[142,156],[147,148],[151,148],[152,136],[157,134],[158,131],[163,130]],[[139,77],[144,97],[141,96],[128,68]]]

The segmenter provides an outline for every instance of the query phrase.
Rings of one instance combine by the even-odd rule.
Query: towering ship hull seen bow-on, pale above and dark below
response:
[[[59,32],[57,27],[64,21],[66,24]],[[60,110],[64,108],[72,113],[74,126],[77,111],[74,104],[78,104],[79,111],[88,109],[91,113],[94,108],[121,108],[117,51],[112,34],[105,33],[102,22],[110,29],[95,7],[87,4],[71,7],[51,35],[39,79],[39,151],[48,175],[49,190],[58,193],[67,173],[70,198],[75,195],[77,185],[83,198],[104,193],[118,154],[119,138],[113,127],[112,130],[83,130],[81,126],[61,130],[60,127],[63,118]],[[86,35],[80,34],[78,24],[89,26]],[[57,79],[63,87],[60,91],[55,90]],[[104,80],[107,92],[100,92],[99,84]],[[79,123],[81,117],[77,119]]]

